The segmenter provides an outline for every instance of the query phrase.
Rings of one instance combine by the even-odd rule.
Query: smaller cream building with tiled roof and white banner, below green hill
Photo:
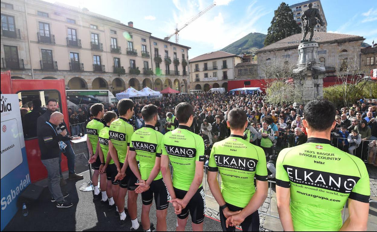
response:
[[[192,89],[228,89],[228,80],[234,80],[235,67],[242,58],[223,51],[208,52],[189,61]]]

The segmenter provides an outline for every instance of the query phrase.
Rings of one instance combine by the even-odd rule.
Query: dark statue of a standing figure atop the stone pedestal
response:
[[[309,9],[307,9],[301,16],[301,20],[303,22],[303,30],[304,30],[302,41],[305,41],[306,35],[308,34],[308,32],[310,32],[309,41],[312,41],[314,27],[317,26],[317,23],[319,23],[321,26],[324,25],[322,18],[319,14],[319,10],[317,8],[312,8],[312,7],[313,7],[313,4],[309,3]]]

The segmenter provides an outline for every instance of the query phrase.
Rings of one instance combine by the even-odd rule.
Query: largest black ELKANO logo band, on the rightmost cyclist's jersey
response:
[[[338,193],[351,193],[360,177],[283,165],[294,183],[323,188]]]

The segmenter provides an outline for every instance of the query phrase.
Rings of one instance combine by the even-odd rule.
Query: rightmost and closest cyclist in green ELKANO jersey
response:
[[[368,172],[361,159],[331,146],[334,105],[313,100],[303,114],[307,143],[283,149],[276,161],[277,208],[284,230],[366,230]],[[342,225],[347,199],[349,217]]]

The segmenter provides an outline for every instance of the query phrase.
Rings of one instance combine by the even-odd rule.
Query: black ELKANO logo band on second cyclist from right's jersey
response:
[[[244,171],[255,171],[258,163],[256,159],[228,155],[215,155],[215,162],[218,167]]]

